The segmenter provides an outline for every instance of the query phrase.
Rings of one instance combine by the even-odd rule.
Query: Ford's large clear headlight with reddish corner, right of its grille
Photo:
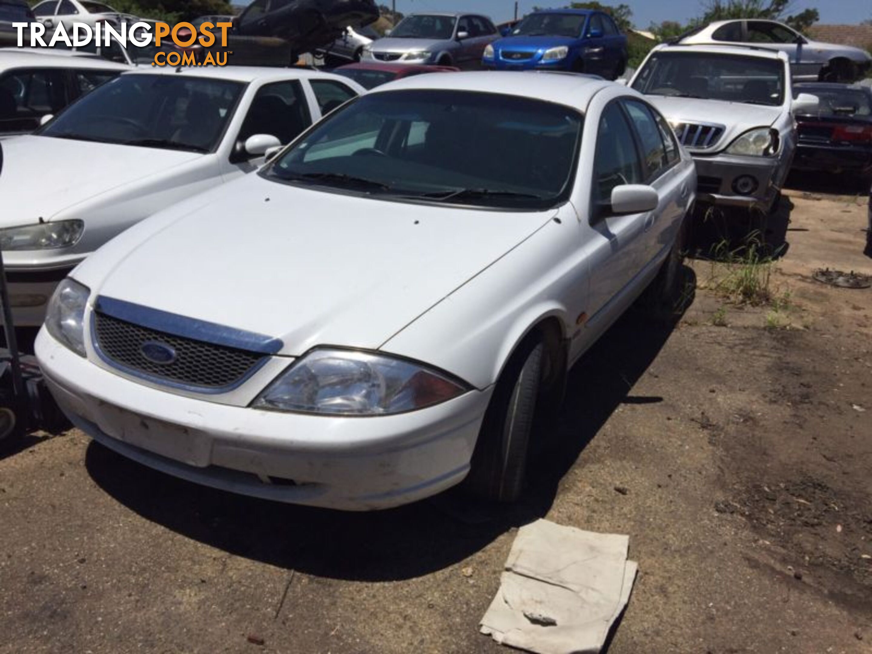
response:
[[[467,392],[444,374],[374,352],[315,350],[255,399],[258,409],[345,416],[423,409]]]

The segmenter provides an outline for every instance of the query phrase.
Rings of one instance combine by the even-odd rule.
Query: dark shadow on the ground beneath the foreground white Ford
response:
[[[694,284],[686,279],[692,276],[690,269],[683,272],[685,284]],[[527,493],[511,506],[472,501],[453,489],[431,500],[371,513],[299,507],[179,480],[93,441],[85,467],[107,494],[146,520],[233,555],[335,579],[390,581],[426,575],[548,513],[562,476],[617,406],[659,400],[633,396],[630,389],[679,319],[655,319],[630,310],[570,371],[566,399],[552,427],[559,446],[531,467]]]

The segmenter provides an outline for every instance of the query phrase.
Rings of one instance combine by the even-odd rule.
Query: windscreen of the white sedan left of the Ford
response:
[[[224,79],[121,75],[69,106],[38,134],[211,152],[244,85]]]

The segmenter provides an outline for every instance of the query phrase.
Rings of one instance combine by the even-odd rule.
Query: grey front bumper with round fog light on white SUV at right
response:
[[[780,158],[723,153],[691,156],[697,167],[697,200],[701,202],[768,211],[787,177],[787,166]],[[743,183],[750,187],[743,187]]]

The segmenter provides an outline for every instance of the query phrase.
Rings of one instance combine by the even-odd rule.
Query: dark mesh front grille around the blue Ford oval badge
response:
[[[211,391],[235,385],[265,356],[261,352],[174,336],[99,311],[95,312],[94,327],[96,344],[109,363],[140,376]],[[146,343],[172,348],[174,360],[160,364],[146,358],[142,352]]]

